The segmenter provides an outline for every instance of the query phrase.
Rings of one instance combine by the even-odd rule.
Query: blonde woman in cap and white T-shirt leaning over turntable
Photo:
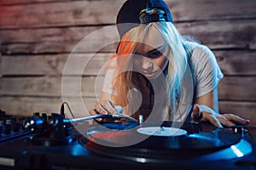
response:
[[[162,0],[127,0],[117,26],[121,41],[108,62],[102,95],[90,115],[106,114],[106,101],[144,120],[211,122],[216,127],[249,123],[218,113],[223,77],[212,51],[179,34]],[[111,112],[111,109],[108,109]]]

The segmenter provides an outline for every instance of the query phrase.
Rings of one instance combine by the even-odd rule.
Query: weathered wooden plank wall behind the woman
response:
[[[94,47],[118,38],[114,29],[100,31],[96,37],[90,33],[113,25],[124,2],[0,0],[0,109],[13,115],[50,113],[59,111],[62,101],[67,100],[76,116],[87,115],[84,104],[91,108],[96,103],[96,76],[114,52],[115,43],[92,54]],[[250,118],[256,126],[255,0],[166,3],[177,29],[216,54],[225,75],[218,85],[220,111]],[[78,45],[84,37],[87,39]],[[73,71],[64,71],[74,48]],[[84,61],[90,63],[81,72]],[[82,88],[77,82],[81,76]],[[64,94],[63,77],[69,89]]]

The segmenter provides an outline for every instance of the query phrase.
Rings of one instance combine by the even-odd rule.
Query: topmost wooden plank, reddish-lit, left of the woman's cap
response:
[[[112,2],[112,3],[109,3]],[[78,26],[114,23],[122,0],[26,3],[0,6],[0,27]]]

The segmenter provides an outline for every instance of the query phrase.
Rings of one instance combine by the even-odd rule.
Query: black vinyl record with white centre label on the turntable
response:
[[[147,122],[143,127],[128,122],[105,123],[90,127],[85,137],[111,147],[139,145],[172,150],[218,150],[241,139],[241,133],[207,124],[184,123],[180,128],[172,127],[172,122],[164,122],[160,127],[155,124],[159,123]]]

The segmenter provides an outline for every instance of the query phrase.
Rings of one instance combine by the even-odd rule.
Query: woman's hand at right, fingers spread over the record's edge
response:
[[[193,107],[191,118],[195,122],[211,122],[212,125],[216,127],[222,127],[222,125],[227,127],[236,126],[236,124],[232,121],[241,123],[242,125],[246,125],[250,122],[250,120],[243,119],[240,116],[236,116],[233,114],[218,114],[216,111],[213,111],[207,105],[197,104],[195,104]]]

